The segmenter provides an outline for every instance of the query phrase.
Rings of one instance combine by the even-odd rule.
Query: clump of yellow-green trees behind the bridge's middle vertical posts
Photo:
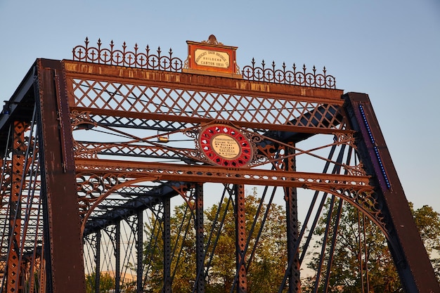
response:
[[[246,197],[246,230],[252,232],[252,240],[247,249],[247,260],[252,257],[248,267],[248,292],[266,293],[273,291],[274,284],[280,284],[284,276],[287,251],[285,245],[285,211],[283,207],[271,204],[264,229],[263,218],[268,204],[262,209],[254,222],[260,199],[256,195]],[[216,216],[219,214],[220,216]],[[224,221],[221,221],[224,217]],[[172,277],[173,292],[192,292],[196,279],[195,269],[195,230],[193,215],[188,205],[175,207],[171,219],[172,239]],[[252,223],[254,228],[252,229]],[[162,234],[161,222],[150,219],[146,226],[149,240],[144,243],[146,278],[145,292],[160,292],[162,289]],[[259,237],[258,237],[259,235]],[[258,237],[258,242],[257,242]],[[205,271],[206,292],[229,292],[235,280],[235,218],[233,204],[223,202],[205,211]],[[252,252],[254,251],[254,254]],[[204,278],[204,277],[202,277]]]

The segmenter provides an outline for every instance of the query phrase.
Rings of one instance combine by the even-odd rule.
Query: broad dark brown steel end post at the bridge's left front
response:
[[[72,127],[63,65],[37,60],[41,199],[44,203],[47,291],[86,292]]]

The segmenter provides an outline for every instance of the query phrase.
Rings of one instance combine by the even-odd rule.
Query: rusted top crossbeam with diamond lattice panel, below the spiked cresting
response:
[[[339,90],[68,61],[65,67],[70,107],[79,120],[105,115],[206,124],[214,119],[281,131],[346,131],[337,115],[343,104]],[[97,74],[110,78],[102,81]],[[312,115],[309,109],[315,109]]]

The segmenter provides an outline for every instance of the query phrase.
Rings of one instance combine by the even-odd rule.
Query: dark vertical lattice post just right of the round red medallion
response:
[[[287,171],[296,171],[295,150],[287,148],[285,168]],[[289,293],[301,292],[301,280],[299,278],[299,252],[298,247],[298,204],[297,188],[285,188],[286,221],[287,221],[287,263],[292,263],[289,275]]]

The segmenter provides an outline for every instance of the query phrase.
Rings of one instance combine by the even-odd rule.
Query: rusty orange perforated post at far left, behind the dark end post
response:
[[[21,234],[21,193],[25,162],[25,123],[14,122],[12,174],[11,174],[11,207],[9,208],[9,249],[7,292],[18,292],[20,289],[20,234]]]

